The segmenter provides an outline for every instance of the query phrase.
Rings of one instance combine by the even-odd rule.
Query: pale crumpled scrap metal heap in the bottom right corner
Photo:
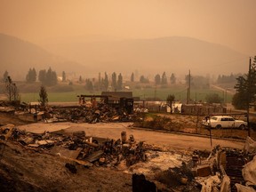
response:
[[[208,158],[203,160],[195,153],[192,159],[202,192],[256,191],[256,142],[250,137],[244,150],[216,146]]]

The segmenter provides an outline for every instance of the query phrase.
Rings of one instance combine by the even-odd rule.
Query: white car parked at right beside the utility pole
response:
[[[207,116],[202,121],[204,126],[221,129],[221,128],[239,128],[244,130],[247,127],[247,122],[237,120],[232,116]]]

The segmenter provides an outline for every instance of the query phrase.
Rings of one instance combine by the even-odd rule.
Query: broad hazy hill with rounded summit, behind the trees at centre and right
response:
[[[70,41],[69,41],[70,42]],[[247,71],[249,57],[221,44],[195,38],[171,36],[156,39],[95,41],[47,46],[47,49],[88,70],[144,74],[229,75]],[[92,68],[91,68],[92,67]]]

